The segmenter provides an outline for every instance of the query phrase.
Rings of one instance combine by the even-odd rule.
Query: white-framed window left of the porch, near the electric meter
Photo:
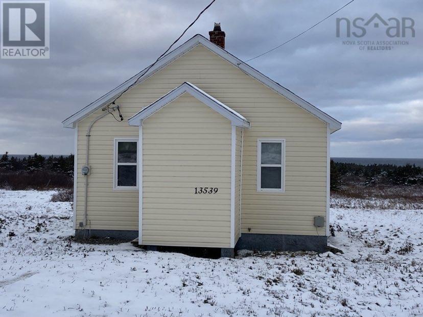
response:
[[[138,186],[137,139],[114,140],[114,189],[136,189]]]

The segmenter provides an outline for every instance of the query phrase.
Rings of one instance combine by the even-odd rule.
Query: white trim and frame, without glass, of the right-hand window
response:
[[[281,164],[262,164],[262,143],[282,143]],[[257,191],[259,192],[285,192],[285,139],[257,139]],[[281,167],[281,188],[262,188],[262,167]]]

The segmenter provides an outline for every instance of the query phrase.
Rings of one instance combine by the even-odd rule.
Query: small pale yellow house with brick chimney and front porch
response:
[[[220,25],[209,34],[63,121],[76,235],[324,251],[341,123],[225,51]]]

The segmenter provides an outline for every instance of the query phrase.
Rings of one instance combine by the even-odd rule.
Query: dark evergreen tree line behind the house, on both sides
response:
[[[0,157],[0,188],[50,189],[72,188],[74,155],[45,157],[35,153],[23,158]],[[423,185],[423,168],[416,165],[361,165],[331,160],[331,190],[342,190],[349,184],[363,186]]]

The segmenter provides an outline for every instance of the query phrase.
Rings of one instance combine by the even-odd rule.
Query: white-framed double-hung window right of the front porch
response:
[[[285,140],[257,140],[257,191],[285,191]]]

